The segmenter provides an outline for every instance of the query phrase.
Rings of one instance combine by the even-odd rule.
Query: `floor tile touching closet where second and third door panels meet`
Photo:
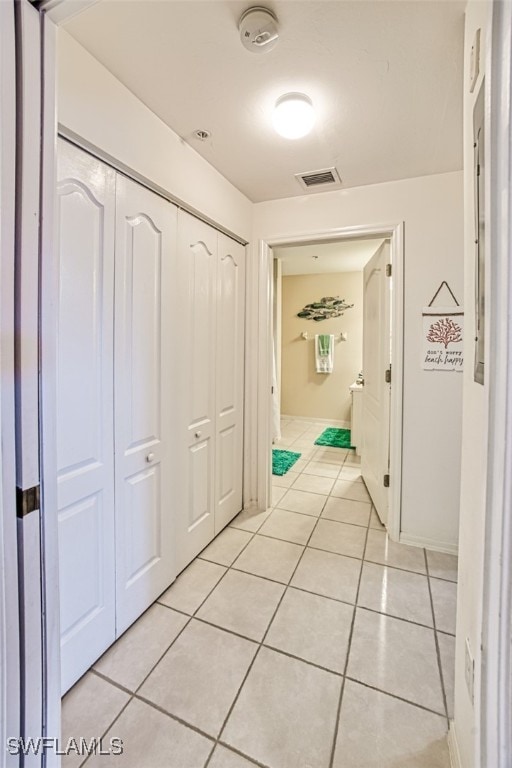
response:
[[[207,560],[193,560],[158,601],[177,611],[192,614],[225,573],[223,565]]]

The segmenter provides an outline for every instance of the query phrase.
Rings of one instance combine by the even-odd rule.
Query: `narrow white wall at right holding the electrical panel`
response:
[[[482,642],[483,561],[485,542],[485,496],[487,474],[488,382],[473,381],[473,338],[475,336],[475,235],[473,199],[473,107],[485,72],[486,30],[490,4],[470,2],[466,9],[464,46],[464,300],[467,307],[465,336],[462,421],[462,471],[460,499],[459,592],[457,602],[457,637],[455,658],[455,737],[463,768],[480,766],[480,670]],[[480,76],[469,93],[468,72],[471,45],[480,28]],[[489,252],[487,251],[487,261]],[[486,305],[489,301],[487,269]],[[486,344],[487,350],[489,345]],[[486,360],[486,371],[489,366]],[[464,643],[469,638],[475,658],[475,701],[472,704],[464,677]],[[491,766],[489,766],[491,768]]]

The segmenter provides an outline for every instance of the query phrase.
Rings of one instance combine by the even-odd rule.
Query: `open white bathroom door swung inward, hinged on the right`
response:
[[[389,399],[386,369],[390,364],[390,278],[386,277],[389,243],[364,268],[363,287],[363,414],[361,473],[377,514],[386,524],[389,472]]]

